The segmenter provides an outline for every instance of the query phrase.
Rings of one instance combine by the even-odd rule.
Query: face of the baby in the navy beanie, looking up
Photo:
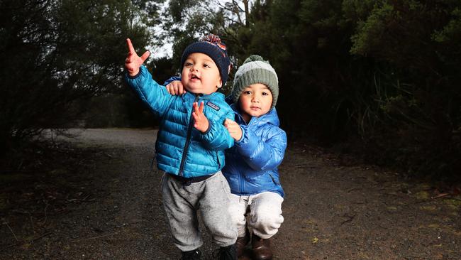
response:
[[[191,53],[182,67],[184,88],[196,94],[211,94],[221,87],[222,81],[216,63],[204,53]]]

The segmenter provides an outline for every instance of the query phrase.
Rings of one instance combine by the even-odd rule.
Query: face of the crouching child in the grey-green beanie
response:
[[[272,92],[266,85],[256,83],[245,87],[238,102],[243,119],[248,122],[251,117],[260,117],[269,112],[272,107]]]

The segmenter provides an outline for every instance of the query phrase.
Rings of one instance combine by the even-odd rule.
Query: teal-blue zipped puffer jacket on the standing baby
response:
[[[167,173],[185,178],[211,175],[224,166],[224,149],[233,146],[233,139],[223,126],[226,118],[233,119],[233,110],[224,101],[224,95],[186,92],[172,96],[165,87],[152,80],[144,67],[134,77],[126,74],[126,82],[160,117],[155,150],[157,166]],[[192,104],[204,102],[204,114],[210,126],[202,134],[194,128]]]

